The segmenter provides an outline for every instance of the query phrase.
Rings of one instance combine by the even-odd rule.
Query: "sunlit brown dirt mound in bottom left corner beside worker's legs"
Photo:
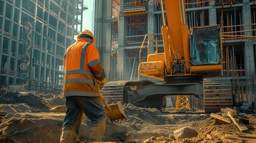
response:
[[[1,121],[0,142],[58,142],[63,116],[9,114]]]

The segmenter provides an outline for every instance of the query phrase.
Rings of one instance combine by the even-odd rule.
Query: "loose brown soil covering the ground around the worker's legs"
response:
[[[64,99],[18,92],[1,95],[0,110],[8,114],[0,117],[0,142],[58,142],[64,113],[50,113],[50,108],[56,105],[64,105]],[[240,132],[234,123],[215,125],[215,119],[209,114],[192,110],[163,113],[131,104],[124,104],[123,108],[127,120],[114,123],[107,120],[104,142],[256,142],[255,114],[247,114],[249,130]],[[198,136],[176,140],[174,130],[184,126],[195,129]],[[78,142],[88,140],[89,129],[90,120],[84,117]]]

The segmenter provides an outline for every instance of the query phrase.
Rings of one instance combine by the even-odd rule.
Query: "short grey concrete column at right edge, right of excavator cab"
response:
[[[245,42],[244,62],[245,62],[245,75],[255,76],[255,61],[254,61],[254,45],[252,40]]]

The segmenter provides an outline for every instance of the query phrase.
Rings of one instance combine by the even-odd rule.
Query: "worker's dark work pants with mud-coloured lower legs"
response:
[[[100,142],[105,131],[106,111],[99,97],[66,97],[66,116],[60,142],[76,142],[85,115],[91,120],[89,142]]]

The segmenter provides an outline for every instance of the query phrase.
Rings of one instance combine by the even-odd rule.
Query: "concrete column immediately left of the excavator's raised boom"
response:
[[[147,33],[154,34],[156,33],[156,17],[153,12],[155,11],[155,5],[153,3],[153,0],[149,0],[149,6],[147,8],[147,11],[149,14],[147,15]],[[156,39],[156,36],[153,36]],[[150,48],[149,53],[153,54],[155,52],[155,48],[153,48],[153,41],[150,41]]]

